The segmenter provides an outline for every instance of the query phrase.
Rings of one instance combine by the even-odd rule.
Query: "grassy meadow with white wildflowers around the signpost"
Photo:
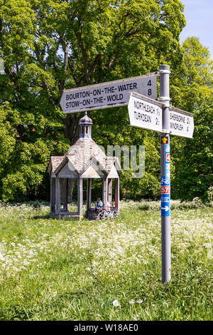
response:
[[[212,320],[212,207],[171,206],[166,290],[160,202],[121,201],[121,218],[104,222],[1,203],[0,320]]]

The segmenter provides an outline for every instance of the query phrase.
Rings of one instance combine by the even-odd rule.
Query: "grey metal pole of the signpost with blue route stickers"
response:
[[[161,254],[162,282],[171,278],[170,265],[170,66],[160,65],[160,102],[163,107],[163,131],[160,135]]]

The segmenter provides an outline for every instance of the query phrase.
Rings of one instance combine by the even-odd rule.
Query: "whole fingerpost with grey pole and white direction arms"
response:
[[[160,98],[157,76],[160,74]],[[192,138],[192,113],[170,105],[170,66],[160,65],[159,72],[119,81],[72,88],[62,93],[64,113],[128,105],[130,125],[160,133],[160,196],[162,282],[171,278],[170,265],[170,135]]]

